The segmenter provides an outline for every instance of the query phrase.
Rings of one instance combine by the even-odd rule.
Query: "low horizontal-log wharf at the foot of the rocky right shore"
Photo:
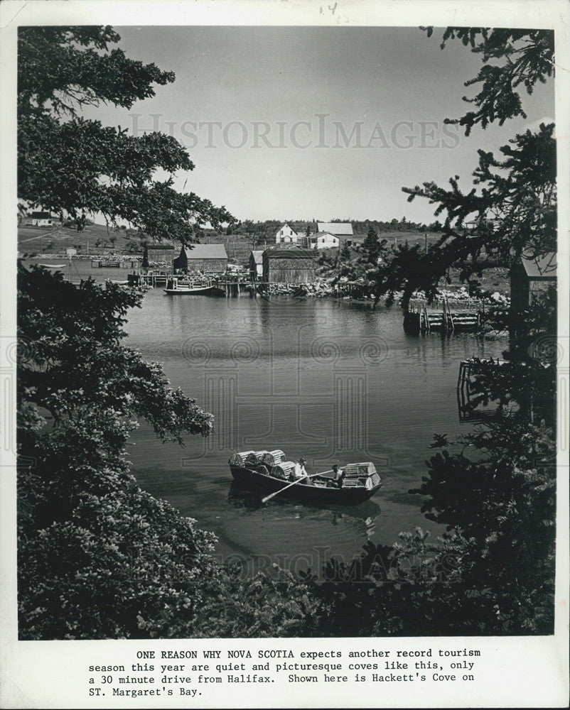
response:
[[[404,315],[404,330],[409,333],[476,332],[484,322],[485,305],[478,298],[441,297],[431,304],[414,298]]]

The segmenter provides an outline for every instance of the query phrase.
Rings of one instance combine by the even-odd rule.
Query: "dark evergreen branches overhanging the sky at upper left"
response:
[[[194,167],[185,148],[163,133],[129,136],[80,115],[102,103],[129,109],[153,97],[154,84],[173,82],[173,72],[110,48],[119,40],[109,27],[20,28],[18,197],[72,217],[78,229],[88,215],[101,213],[154,239],[188,243],[195,225],[219,226],[232,217],[174,189],[175,173]]]

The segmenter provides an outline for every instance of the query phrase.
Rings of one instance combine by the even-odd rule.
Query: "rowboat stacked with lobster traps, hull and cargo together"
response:
[[[259,452],[259,454],[267,452]],[[296,498],[307,503],[333,503],[335,505],[356,505],[363,503],[378,491],[382,486],[380,476],[377,474],[374,464],[366,461],[364,464],[347,464],[344,467],[345,475],[342,486],[334,484],[333,478],[327,476],[330,471],[323,474],[312,474],[311,484],[307,482],[297,482],[291,485],[291,481],[275,474],[281,468],[277,466],[267,466],[267,463],[254,463],[256,452],[247,452],[247,457],[241,454],[233,454],[230,458],[230,471],[237,484],[260,493],[278,493],[284,498]],[[242,459],[240,461],[240,459]],[[244,460],[247,459],[247,460]],[[262,456],[258,457],[262,460]],[[319,479],[316,480],[316,476]]]

